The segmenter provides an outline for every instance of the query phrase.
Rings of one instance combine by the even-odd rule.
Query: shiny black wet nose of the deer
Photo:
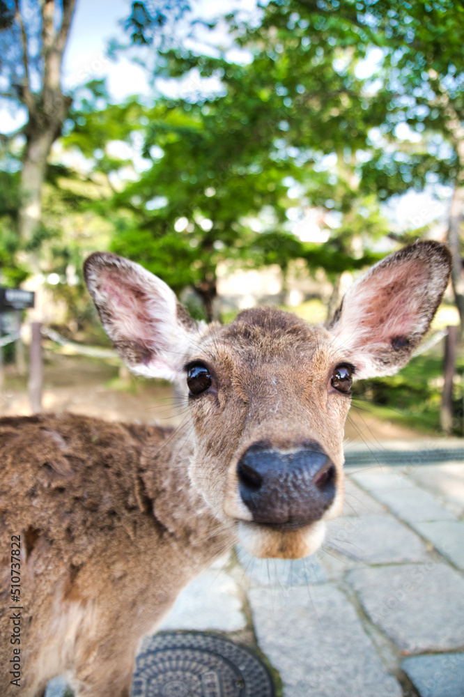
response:
[[[320,520],[335,497],[335,466],[318,443],[286,451],[257,443],[242,455],[237,473],[255,523],[306,525]]]

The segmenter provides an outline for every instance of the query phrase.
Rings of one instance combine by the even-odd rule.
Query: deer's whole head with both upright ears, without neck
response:
[[[352,381],[408,362],[449,266],[437,243],[392,254],[352,286],[327,328],[272,308],[206,327],[137,264],[97,253],[85,268],[127,365],[176,380],[185,395],[190,480],[212,512],[255,556],[299,558],[318,549],[343,505]]]

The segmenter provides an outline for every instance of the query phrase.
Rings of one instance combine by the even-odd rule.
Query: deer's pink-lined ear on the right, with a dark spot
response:
[[[390,254],[359,278],[329,330],[357,378],[392,375],[410,359],[430,327],[451,271],[438,242],[418,242]]]

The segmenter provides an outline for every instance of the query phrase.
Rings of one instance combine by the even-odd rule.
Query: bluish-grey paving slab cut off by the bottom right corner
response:
[[[464,654],[407,658],[401,668],[420,697],[464,697]]]

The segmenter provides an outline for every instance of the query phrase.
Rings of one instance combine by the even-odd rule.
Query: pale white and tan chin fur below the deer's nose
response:
[[[325,522],[316,521],[297,530],[270,530],[256,523],[238,524],[238,541],[254,557],[301,559],[323,543]]]

